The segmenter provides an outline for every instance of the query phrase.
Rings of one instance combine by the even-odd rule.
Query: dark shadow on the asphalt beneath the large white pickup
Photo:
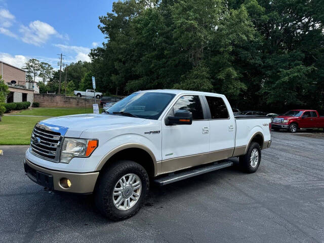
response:
[[[139,214],[145,214],[145,209],[163,209],[164,207],[174,206],[173,201],[181,201],[183,197],[187,196],[193,198],[201,193],[201,190],[208,190],[209,187],[217,188],[221,186],[224,179],[231,180],[233,176],[246,174],[240,171],[237,158],[232,158],[230,160],[234,163],[231,167],[177,181],[165,186],[160,187],[151,181],[150,191]],[[94,220],[96,223],[103,224],[114,222],[106,219],[97,211],[93,195],[76,195],[51,191],[43,191],[41,193],[45,194],[45,198],[51,198],[50,200],[44,198],[47,207],[56,208],[63,213],[64,217],[67,219],[77,215],[77,217],[83,218],[83,220],[88,223],[94,222]],[[37,195],[35,195],[35,197],[37,197]],[[39,210],[35,209],[35,213],[37,212],[39,212]],[[55,215],[51,217],[53,216],[55,217]],[[136,217],[136,215],[134,217]]]

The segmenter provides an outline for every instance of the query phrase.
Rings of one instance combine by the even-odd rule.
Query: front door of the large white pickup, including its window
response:
[[[191,125],[166,126],[162,119],[162,172],[168,173],[201,163],[201,154],[209,152],[209,120],[201,106],[201,98],[197,95],[180,97],[168,115],[177,110],[192,113]]]

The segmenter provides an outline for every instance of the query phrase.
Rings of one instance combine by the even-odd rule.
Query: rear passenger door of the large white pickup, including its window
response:
[[[231,157],[234,151],[235,119],[223,97],[205,96],[210,123],[209,150],[215,160]],[[226,104],[226,103],[227,104]]]

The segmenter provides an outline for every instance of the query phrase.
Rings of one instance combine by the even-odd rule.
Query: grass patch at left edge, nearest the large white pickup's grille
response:
[[[0,145],[29,145],[35,124],[46,118],[49,117],[3,116],[0,122]]]

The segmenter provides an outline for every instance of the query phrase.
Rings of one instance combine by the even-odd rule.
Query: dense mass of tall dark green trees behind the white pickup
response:
[[[273,112],[324,105],[323,0],[127,0],[99,19],[107,41],[87,72],[100,91],[204,90]]]

